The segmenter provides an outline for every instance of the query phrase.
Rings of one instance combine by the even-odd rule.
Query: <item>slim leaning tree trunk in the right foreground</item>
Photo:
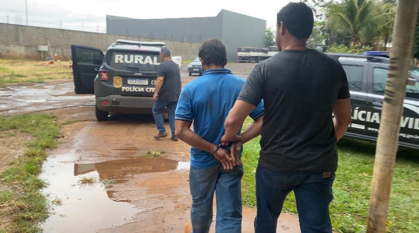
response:
[[[397,4],[391,62],[375,152],[367,233],[384,233],[386,230],[418,6],[419,0],[399,0]]]

